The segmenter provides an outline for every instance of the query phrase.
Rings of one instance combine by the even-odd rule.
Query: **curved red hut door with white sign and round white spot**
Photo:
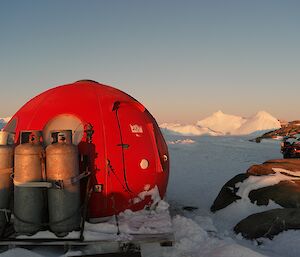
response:
[[[116,103],[124,182],[128,190],[140,193],[152,188],[156,181],[158,157],[153,124],[141,104]]]

